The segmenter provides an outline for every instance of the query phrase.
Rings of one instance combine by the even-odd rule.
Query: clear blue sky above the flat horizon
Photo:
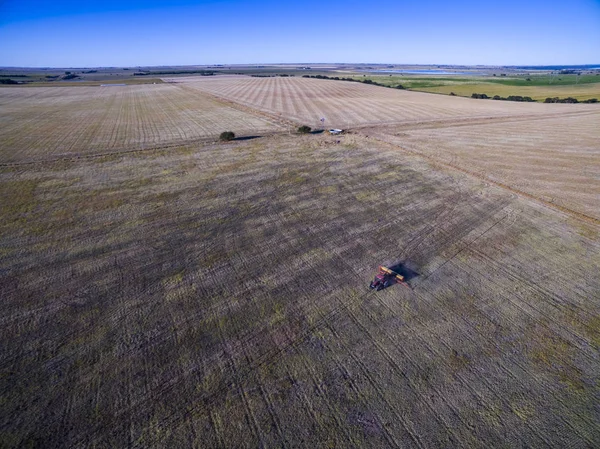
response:
[[[600,63],[600,0],[0,0],[0,66]]]

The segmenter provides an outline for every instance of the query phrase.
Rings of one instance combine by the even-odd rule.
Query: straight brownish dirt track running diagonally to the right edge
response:
[[[599,218],[592,217],[590,215],[586,215],[583,212],[577,212],[577,211],[575,211],[573,209],[569,209],[568,207],[565,207],[565,206],[560,206],[560,205],[555,204],[555,203],[553,203],[551,201],[547,201],[547,200],[544,200],[542,198],[539,198],[539,197],[537,197],[537,196],[535,196],[535,195],[533,195],[531,193],[524,192],[522,190],[516,189],[516,188],[511,187],[511,186],[509,186],[507,184],[504,184],[502,182],[494,181],[493,179],[490,179],[490,178],[488,178],[486,176],[482,176],[482,175],[477,174],[477,173],[475,173],[473,171],[470,171],[470,170],[467,170],[465,168],[459,167],[456,164],[452,164],[450,162],[440,161],[439,159],[436,159],[433,156],[429,156],[429,155],[423,154],[420,151],[409,150],[408,148],[405,148],[405,147],[403,147],[403,146],[401,146],[401,145],[399,145],[397,143],[388,142],[387,140],[384,140],[381,137],[374,137],[374,136],[369,137],[369,136],[365,136],[365,135],[362,135],[362,136],[363,137],[367,137],[369,139],[376,140],[377,142],[380,142],[382,144],[386,144],[386,145],[391,146],[393,148],[397,148],[397,149],[399,149],[401,151],[404,151],[405,153],[409,153],[409,154],[412,154],[414,156],[421,157],[421,158],[427,160],[428,162],[431,162],[434,165],[438,165],[438,166],[442,166],[442,167],[445,167],[445,168],[451,168],[453,170],[457,170],[457,171],[459,171],[461,173],[464,173],[466,175],[472,176],[472,177],[477,178],[477,179],[479,179],[481,181],[484,181],[486,183],[493,184],[496,187],[500,187],[500,188],[502,188],[504,190],[508,190],[509,192],[514,193],[516,195],[519,195],[521,197],[525,197],[527,199],[537,201],[538,203],[540,203],[540,204],[542,204],[542,205],[544,205],[544,206],[546,206],[546,207],[548,207],[550,209],[554,209],[554,210],[557,210],[559,212],[563,212],[564,214],[570,215],[570,216],[572,216],[574,218],[578,218],[578,219],[580,219],[582,221],[586,221],[588,223],[600,226],[600,219]]]

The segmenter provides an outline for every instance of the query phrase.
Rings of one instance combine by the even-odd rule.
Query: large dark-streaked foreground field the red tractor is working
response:
[[[594,223],[353,134],[0,188],[6,447],[600,445]]]

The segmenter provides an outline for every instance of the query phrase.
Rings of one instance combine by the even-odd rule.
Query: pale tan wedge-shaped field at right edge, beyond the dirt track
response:
[[[600,220],[599,126],[600,111],[433,129],[387,127],[369,133]]]

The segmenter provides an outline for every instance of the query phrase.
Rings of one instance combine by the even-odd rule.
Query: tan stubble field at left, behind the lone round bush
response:
[[[0,163],[278,129],[270,119],[169,84],[0,89]]]

